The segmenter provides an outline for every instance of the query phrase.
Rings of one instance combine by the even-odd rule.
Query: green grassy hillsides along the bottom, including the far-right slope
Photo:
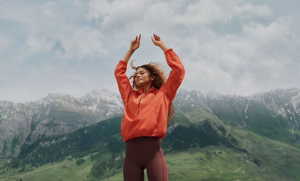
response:
[[[169,170],[169,180],[272,180],[296,181],[300,179],[300,148],[287,146],[281,142],[265,139],[255,133],[248,133],[257,142],[256,154],[227,148],[225,146],[206,146],[190,148],[182,152],[165,155]],[[249,141],[249,140],[248,140]],[[249,142],[248,142],[249,143]],[[250,147],[252,146],[250,143]],[[258,154],[260,153],[260,154]],[[45,164],[34,170],[26,167],[25,172],[18,169],[6,169],[0,176],[1,181],[96,181],[123,180],[122,169],[113,176],[98,179],[91,170],[96,160],[94,154],[82,158],[64,158],[61,161]],[[79,160],[85,161],[77,165]],[[120,158],[122,161],[124,157]],[[2,171],[2,170],[1,170]],[[145,180],[146,177],[145,170]]]

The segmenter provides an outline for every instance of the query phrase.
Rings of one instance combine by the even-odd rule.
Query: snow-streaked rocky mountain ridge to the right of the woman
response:
[[[269,129],[287,128],[300,143],[300,89],[274,89],[251,96],[222,95],[213,90],[206,94],[197,90],[178,90],[174,105],[183,110],[198,110],[202,107],[225,124],[246,129],[267,126]],[[187,112],[189,112],[187,111]],[[254,123],[256,122],[256,123]]]

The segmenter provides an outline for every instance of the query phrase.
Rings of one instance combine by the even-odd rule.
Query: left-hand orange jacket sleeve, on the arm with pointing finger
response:
[[[119,91],[122,101],[125,104],[128,102],[129,95],[134,91],[131,87],[130,81],[126,76],[127,62],[120,60],[115,69],[115,77],[118,82]]]

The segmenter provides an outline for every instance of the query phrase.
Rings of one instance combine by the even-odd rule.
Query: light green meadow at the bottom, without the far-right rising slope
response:
[[[244,152],[232,151],[223,146],[208,146],[194,148],[185,152],[165,155],[169,170],[169,180],[295,180],[284,179],[271,172],[271,168],[259,167],[253,163],[253,158]],[[92,167],[89,157],[81,165],[76,165],[76,159],[65,159],[62,162],[49,163],[35,170],[16,173],[12,176],[0,176],[1,181],[74,181],[99,180],[89,177]],[[11,173],[17,170],[10,170]],[[123,173],[103,180],[123,180]],[[145,180],[147,179],[145,170]]]

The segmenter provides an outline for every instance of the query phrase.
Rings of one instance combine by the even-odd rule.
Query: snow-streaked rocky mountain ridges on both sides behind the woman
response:
[[[179,89],[173,103],[194,123],[213,115],[225,125],[265,134],[272,129],[290,129],[294,140],[300,143],[299,88],[278,88],[251,96]],[[119,94],[99,89],[80,98],[52,93],[34,102],[0,101],[0,155],[16,156],[21,146],[26,149],[43,135],[73,132],[122,112]]]

